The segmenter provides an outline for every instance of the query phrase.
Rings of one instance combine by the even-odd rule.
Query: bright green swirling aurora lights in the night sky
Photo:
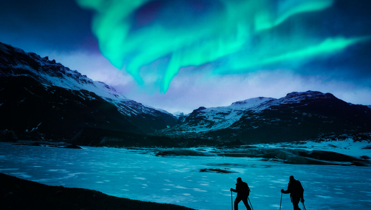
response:
[[[268,64],[333,55],[370,39],[272,33],[291,17],[325,10],[334,0],[203,0],[210,9],[202,14],[182,7],[189,3],[186,0],[164,1],[167,6],[140,27],[135,25],[136,14],[151,0],[76,1],[95,11],[92,31],[102,55],[139,84],[144,84],[139,74],[142,66],[170,58],[158,75],[161,92],[168,90],[182,67],[215,62],[214,73],[249,72]],[[181,17],[184,14],[186,20]]]

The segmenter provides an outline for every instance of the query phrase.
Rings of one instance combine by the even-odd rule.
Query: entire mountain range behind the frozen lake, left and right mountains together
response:
[[[88,132],[81,131],[92,128],[99,136],[96,145],[107,139],[119,142],[117,145],[132,144],[133,139],[147,145],[147,137],[122,136],[128,133],[166,136],[189,145],[211,140],[300,141],[333,133],[369,132],[371,128],[370,106],[318,91],[291,92],[278,99],[250,98],[229,106],[200,106],[190,114],[173,115],[128,99],[112,86],[92,81],[55,60],[1,42],[0,79],[0,112],[6,116],[0,130],[13,130],[25,138],[76,140],[82,133],[76,141],[89,144],[84,136]],[[109,130],[117,133],[108,135]],[[53,137],[50,132],[58,135]],[[171,139],[149,139],[174,145]],[[186,139],[192,142],[184,143]]]

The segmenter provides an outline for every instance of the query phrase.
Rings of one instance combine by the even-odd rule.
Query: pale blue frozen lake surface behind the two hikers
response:
[[[66,149],[0,142],[0,172],[39,183],[79,187],[200,210],[231,209],[236,178],[249,184],[255,210],[279,209],[289,176],[301,181],[308,210],[371,209],[371,167],[293,165],[239,157],[156,157],[140,150]],[[229,168],[234,174],[199,172]],[[236,193],[233,193],[233,200]],[[240,209],[245,209],[243,203]],[[301,207],[301,204],[299,204]],[[292,210],[283,194],[282,210]]]

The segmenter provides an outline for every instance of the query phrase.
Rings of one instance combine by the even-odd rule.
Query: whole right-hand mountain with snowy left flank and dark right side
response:
[[[368,132],[371,109],[331,93],[292,92],[285,97],[252,98],[230,106],[195,109],[184,122],[157,131],[170,137],[249,142],[288,142],[324,134]]]

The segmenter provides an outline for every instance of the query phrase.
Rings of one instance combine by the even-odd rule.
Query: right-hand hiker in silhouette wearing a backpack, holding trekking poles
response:
[[[302,203],[304,203],[303,193],[304,189],[300,183],[300,181],[295,180],[294,176],[290,176],[289,186],[287,187],[287,190],[281,190],[281,193],[289,194],[292,202],[292,206],[294,207],[294,210],[301,210],[299,208],[299,201],[301,200]]]

